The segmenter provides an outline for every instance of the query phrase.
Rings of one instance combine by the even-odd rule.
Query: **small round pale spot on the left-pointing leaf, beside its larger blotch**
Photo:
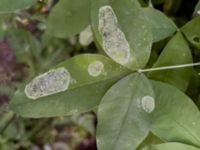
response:
[[[104,74],[104,64],[101,61],[95,61],[88,65],[88,73],[93,77]]]

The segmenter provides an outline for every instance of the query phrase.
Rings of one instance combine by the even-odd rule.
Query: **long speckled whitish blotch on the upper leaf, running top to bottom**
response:
[[[98,30],[106,54],[119,64],[127,64],[130,61],[130,46],[125,34],[118,27],[117,17],[109,5],[99,9]]]

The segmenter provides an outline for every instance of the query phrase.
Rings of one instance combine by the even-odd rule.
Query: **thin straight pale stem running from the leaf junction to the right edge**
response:
[[[174,65],[174,66],[155,67],[155,68],[148,68],[148,69],[138,69],[138,72],[144,73],[144,72],[169,70],[169,69],[177,69],[177,68],[186,68],[186,67],[193,67],[193,66],[200,66],[200,62],[191,63],[191,64]]]

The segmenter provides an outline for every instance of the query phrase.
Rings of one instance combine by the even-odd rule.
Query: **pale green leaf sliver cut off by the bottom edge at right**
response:
[[[199,148],[183,143],[164,143],[159,145],[150,145],[143,150],[200,150]]]

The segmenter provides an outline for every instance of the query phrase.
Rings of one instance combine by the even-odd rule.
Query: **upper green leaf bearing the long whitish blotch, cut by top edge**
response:
[[[115,62],[136,70],[146,65],[152,32],[137,0],[92,0],[92,28],[98,45]]]

